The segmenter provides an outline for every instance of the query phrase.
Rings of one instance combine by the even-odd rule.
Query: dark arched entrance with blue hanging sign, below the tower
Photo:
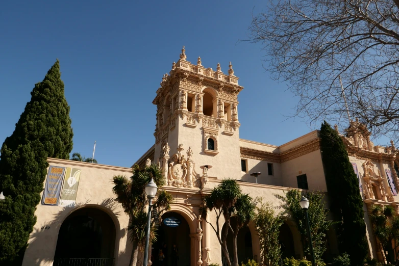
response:
[[[172,252],[173,244],[176,244],[178,253],[178,266],[189,266],[190,255],[191,255],[191,240],[190,240],[190,227],[180,214],[168,211],[162,216],[162,224],[156,231],[157,241],[153,244],[153,250],[151,254],[151,261],[153,265],[159,263],[159,252],[165,255],[164,266],[174,266],[172,264]],[[171,221],[174,221],[172,223]],[[178,226],[176,226],[178,225]],[[165,247],[166,245],[166,247]],[[166,250],[166,251],[165,251]]]

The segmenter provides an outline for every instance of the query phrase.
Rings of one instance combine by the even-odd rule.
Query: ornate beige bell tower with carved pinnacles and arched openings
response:
[[[204,172],[219,179],[241,177],[237,96],[242,89],[231,62],[228,74],[220,64],[216,71],[205,68],[199,57],[194,65],[187,61],[183,46],[180,60],[163,75],[153,101],[154,159],[164,167],[169,185],[201,187],[196,180]]]

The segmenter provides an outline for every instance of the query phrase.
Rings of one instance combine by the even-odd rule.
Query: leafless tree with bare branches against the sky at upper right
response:
[[[346,100],[352,119],[398,137],[399,0],[272,0],[249,30],[300,98],[293,116],[339,121]]]

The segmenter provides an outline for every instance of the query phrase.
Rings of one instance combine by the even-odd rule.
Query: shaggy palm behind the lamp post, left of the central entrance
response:
[[[112,191],[116,195],[116,201],[121,203],[123,210],[130,216],[128,232],[130,234],[130,241],[133,243],[133,250],[129,263],[130,266],[136,265],[138,251],[143,250],[145,245],[145,227],[147,225],[145,185],[151,178],[154,179],[154,182],[159,188],[153,208],[156,207],[158,214],[161,215],[163,211],[170,209],[173,197],[165,190],[161,190],[166,182],[161,169],[157,165],[152,164],[143,169],[135,165],[133,167],[133,175],[130,178],[116,175],[112,180],[114,183]],[[152,242],[156,240],[155,230],[155,223],[152,222],[149,235],[150,241]]]

